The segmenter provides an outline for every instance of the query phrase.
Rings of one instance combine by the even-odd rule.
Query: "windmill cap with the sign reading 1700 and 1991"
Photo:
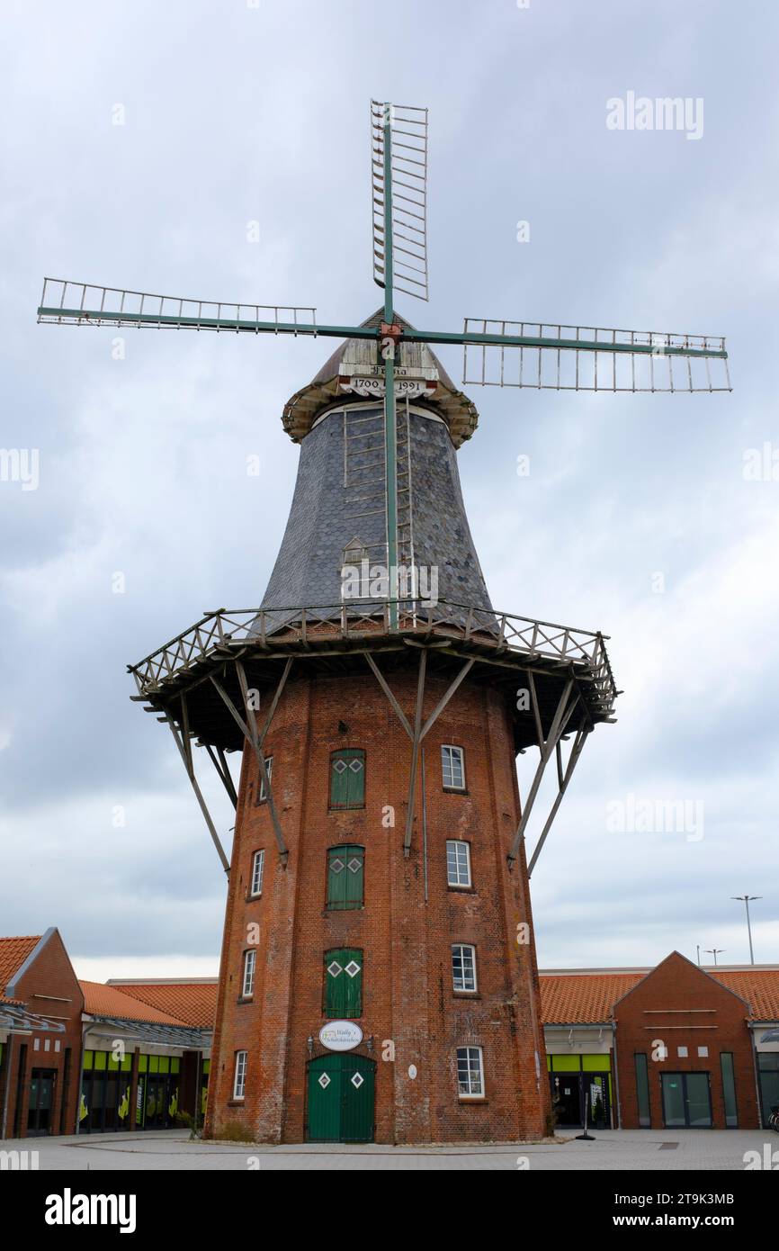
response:
[[[361,327],[379,329],[384,322],[384,309],[376,311],[361,323]],[[395,322],[404,330],[414,327],[395,313]],[[294,443],[311,429],[323,412],[338,399],[349,400],[349,392],[341,390],[341,379],[369,374],[378,362],[378,339],[344,339],[339,348],[321,367],[311,382],[286,402],[281,420],[284,429]],[[459,448],[476,429],[479,414],[476,407],[455,384],[426,343],[410,343],[401,339],[395,357],[395,367],[408,370],[409,378],[424,378],[429,390],[421,400],[444,419],[455,448]],[[416,403],[416,400],[415,400]]]

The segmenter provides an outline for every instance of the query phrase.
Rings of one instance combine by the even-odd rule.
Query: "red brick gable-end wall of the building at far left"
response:
[[[30,1012],[65,1025],[65,1032],[49,1033],[43,1030],[35,1030],[30,1037],[21,1040],[16,1037],[13,1040],[6,1136],[13,1136],[14,1122],[19,1112],[20,1136],[26,1137],[30,1077],[34,1068],[54,1068],[56,1072],[54,1106],[50,1120],[51,1132],[60,1132],[63,1101],[65,1101],[65,1133],[75,1133],[79,1075],[81,1068],[81,1012],[84,1010],[84,996],[68,958],[63,940],[56,929],[49,937],[25,975],[15,983],[14,998],[23,1000]],[[38,1051],[35,1051],[36,1041]],[[58,1042],[60,1050],[55,1051],[54,1048]],[[21,1105],[16,1110],[21,1043],[26,1043],[26,1063]],[[49,1045],[49,1051],[45,1050],[46,1043]],[[9,1036],[6,1047],[11,1048],[11,1036]],[[65,1088],[65,1055],[69,1047],[70,1076],[68,1087]]]

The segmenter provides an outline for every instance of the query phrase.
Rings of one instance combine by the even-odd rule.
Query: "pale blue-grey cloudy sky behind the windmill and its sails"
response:
[[[459,463],[494,604],[603,629],[624,689],[534,873],[540,965],[696,945],[744,961],[745,891],[763,896],[755,958],[778,961],[779,11],[3,10],[0,444],[39,449],[40,468],[35,490],[0,480],[0,933],[59,926],[84,976],[216,972],[224,874],[125,666],[204,610],[259,603],[298,460],[281,407],[331,350],[130,330],[115,359],[108,329],[35,324],[41,279],[361,320],[380,301],[375,96],[430,109],[431,299],[399,300],[410,320],[728,337],[731,394],[474,388]],[[703,134],[609,129],[629,91],[703,101]],[[695,829],[610,828],[630,796],[686,801]]]

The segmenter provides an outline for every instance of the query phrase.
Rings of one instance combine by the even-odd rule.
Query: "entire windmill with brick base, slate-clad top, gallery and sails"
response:
[[[601,634],[493,608],[456,465],[478,414],[433,347],[470,349],[465,382],[606,390],[729,389],[710,373],[726,354],[689,335],[411,327],[393,291],[426,298],[426,111],[373,105],[371,136],[385,303],[363,324],[51,279],[39,320],[341,340],[284,409],[300,462],[261,605],[211,613],[130,667],[229,873],[206,1133],[538,1137],[549,1090],[529,873],[616,691]],[[235,806],[230,859],[194,747]],[[515,757],[530,747],[520,806]]]

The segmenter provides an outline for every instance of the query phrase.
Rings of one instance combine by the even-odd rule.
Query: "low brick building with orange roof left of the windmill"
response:
[[[79,981],[56,928],[0,938],[0,1137],[205,1113],[216,978]]]

